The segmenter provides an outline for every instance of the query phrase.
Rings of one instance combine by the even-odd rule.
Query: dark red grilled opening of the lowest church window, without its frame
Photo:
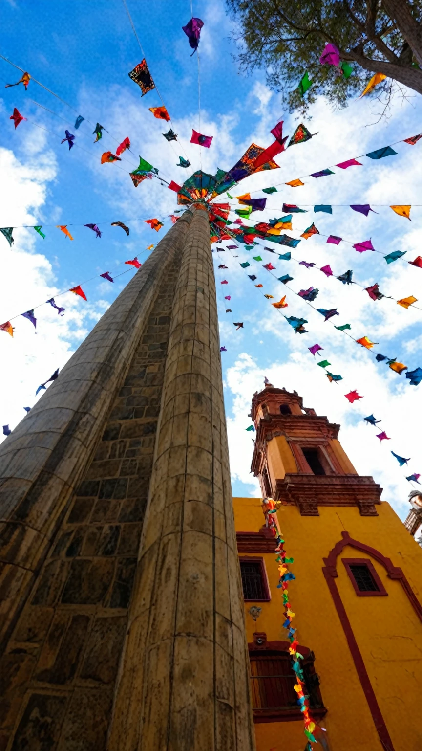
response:
[[[297,692],[294,684],[297,676],[291,667],[291,657],[287,652],[249,653],[251,665],[252,703],[255,719],[260,716],[297,713],[300,718],[300,706],[297,704]],[[301,662],[306,693],[309,695],[309,707],[322,707],[321,693],[318,688],[318,676],[313,671],[312,662]]]

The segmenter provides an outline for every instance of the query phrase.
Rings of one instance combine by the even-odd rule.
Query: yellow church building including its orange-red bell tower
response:
[[[288,599],[315,747],[417,749],[422,550],[372,477],[357,474],[339,425],[304,408],[296,391],[267,384],[254,394],[251,417],[252,471],[263,498],[281,504],[276,516],[294,559]],[[261,499],[235,498],[234,510],[257,751],[297,751],[306,737],[275,541]]]

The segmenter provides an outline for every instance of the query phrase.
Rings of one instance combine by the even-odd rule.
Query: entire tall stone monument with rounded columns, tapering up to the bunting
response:
[[[204,209],[0,447],[1,751],[255,751]]]

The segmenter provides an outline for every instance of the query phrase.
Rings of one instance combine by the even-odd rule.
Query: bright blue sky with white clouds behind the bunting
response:
[[[158,180],[145,181],[134,189],[128,171],[137,166],[138,155],[158,167],[165,179],[180,183],[191,173],[176,167],[178,155],[183,152],[179,144],[173,143],[173,150],[164,140],[161,133],[168,125],[148,111],[161,104],[157,92],[141,98],[140,89],[128,77],[128,71],[143,55],[121,0],[108,2],[101,9],[86,2],[74,2],[71,7],[65,2],[53,5],[2,0],[0,51],[93,125],[104,125],[109,134],[104,133],[103,139],[94,144],[94,128],[89,122],[83,122],[75,131],[77,113],[33,81],[28,92],[22,85],[2,88],[5,82],[18,80],[20,72],[0,60],[0,225],[41,224],[46,234],[42,240],[33,230],[17,229],[12,250],[0,237],[4,271],[0,280],[2,321],[99,273],[122,273],[128,269],[122,264],[134,255],[140,256],[141,261],[146,258],[146,247],[157,243],[170,228],[168,215],[177,207],[175,194]],[[181,29],[191,16],[190,2],[129,2],[128,7],[152,77],[192,168],[197,169],[198,147],[188,143],[191,128],[199,129],[197,56],[190,56],[188,40]],[[263,71],[255,71],[250,77],[238,74],[232,57],[234,47],[228,39],[233,23],[225,15],[224,4],[212,0],[194,3],[193,9],[194,15],[204,21],[200,41],[200,129],[213,135],[211,149],[201,149],[202,161],[204,170],[214,173],[217,167],[231,167],[252,141],[269,145],[273,140],[270,129],[279,119],[285,120],[286,134],[294,130],[300,119],[283,112],[279,96],[265,85]],[[29,120],[16,131],[9,119],[13,107]],[[422,107],[413,92],[408,92],[408,98],[396,92],[387,117],[377,123],[379,111],[378,102],[367,99],[351,101],[345,110],[333,110],[324,98],[318,99],[304,121],[318,135],[276,158],[279,170],[244,180],[232,195],[288,182],[422,129]],[[77,147],[71,152],[67,144],[60,143],[65,128],[77,135]],[[115,151],[116,142],[125,136],[132,144],[131,153],[123,155],[127,161],[101,165],[101,153]],[[276,276],[294,276],[291,287],[296,291],[311,285],[319,288],[316,306],[339,309],[336,322],[350,322],[356,338],[369,336],[379,342],[378,351],[397,357],[409,369],[422,366],[420,310],[406,311],[395,303],[410,294],[422,299],[422,271],[405,263],[421,255],[422,206],[412,209],[411,223],[388,208],[389,204],[421,203],[421,144],[422,141],[417,146],[399,144],[394,157],[379,162],[363,158],[363,167],[337,169],[333,176],[319,180],[305,179],[306,184],[299,189],[284,186],[268,198],[268,210],[253,215],[255,221],[282,216],[283,202],[306,207],[308,214],[294,216],[290,234],[300,237],[315,222],[321,237],[303,240],[292,255],[315,261],[317,266],[328,263],[335,274],[353,269],[354,278],[360,283],[366,286],[378,282],[381,291],[393,300],[375,303],[357,286],[345,288],[318,270],[306,270],[294,261],[274,261],[277,256],[267,252],[261,253],[262,264],[252,261],[251,254],[243,249],[237,259],[228,251],[214,254],[216,261],[222,263],[224,258],[228,266],[225,279],[229,284],[224,289],[232,297],[234,321],[245,322],[243,330],[235,331],[232,319],[225,314],[219,285],[222,277],[217,270],[220,336],[228,348],[223,353],[223,369],[235,494],[257,492],[249,475],[251,434],[245,428],[250,424],[252,394],[261,388],[267,375],[276,386],[296,388],[306,406],[313,406],[330,421],[342,424],[340,439],[358,472],[373,475],[385,489],[383,499],[405,515],[405,499],[411,490],[405,474],[422,472],[418,436],[420,387],[408,385],[404,374],[396,375],[383,363],[375,363],[369,353],[330,323],[324,323],[318,313],[270,277],[262,265],[272,260]],[[255,194],[261,195],[264,194]],[[350,204],[365,203],[378,214],[370,213],[366,218],[348,208]],[[332,204],[333,215],[313,213],[314,204]],[[165,217],[164,228],[158,234],[143,222],[154,216]],[[118,220],[130,227],[129,237],[121,229],[110,227],[110,222]],[[101,239],[82,226],[88,222],[97,223],[104,231]],[[73,242],[56,229],[57,224],[74,225],[69,227]],[[405,250],[405,261],[387,266],[378,253],[360,255],[346,243],[327,246],[323,235],[328,234],[340,235],[353,243],[372,237],[375,249],[383,253]],[[246,260],[264,284],[263,291],[277,299],[287,294],[286,315],[307,318],[309,334],[295,335],[255,289],[239,267]],[[35,403],[37,386],[56,367],[65,364],[133,273],[129,269],[114,285],[101,279],[87,282],[83,285],[87,303],[70,293],[59,297],[58,302],[66,308],[63,318],[50,306],[41,307],[36,312],[37,333],[24,318],[14,322],[13,340],[2,333],[0,356],[7,367],[2,368],[0,376],[0,424],[14,427],[20,421],[23,406]],[[327,381],[309,354],[307,348],[315,342],[324,347],[322,354],[332,363],[329,369],[342,374],[343,381],[338,385]],[[364,398],[349,406],[344,394],[354,388]],[[381,430],[391,437],[383,445],[375,438],[375,430],[363,423],[363,417],[371,412],[382,419]],[[411,457],[406,472],[399,469],[391,448]]]

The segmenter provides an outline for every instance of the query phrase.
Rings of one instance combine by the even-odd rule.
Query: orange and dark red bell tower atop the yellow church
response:
[[[340,426],[303,407],[297,391],[267,384],[254,394],[251,417],[257,433],[252,471],[264,497],[297,505],[303,516],[318,516],[327,505],[377,516],[381,488],[357,474],[339,443]]]

